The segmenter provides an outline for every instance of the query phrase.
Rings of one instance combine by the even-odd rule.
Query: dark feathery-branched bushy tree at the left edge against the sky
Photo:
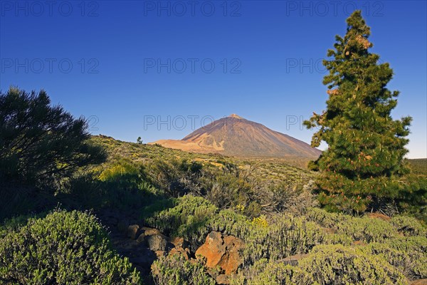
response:
[[[0,184],[46,186],[105,161],[89,138],[88,122],[52,106],[44,90],[0,91]]]

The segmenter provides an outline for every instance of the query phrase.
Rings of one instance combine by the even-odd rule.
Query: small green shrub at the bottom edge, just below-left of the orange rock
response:
[[[173,254],[154,261],[152,276],[156,284],[168,285],[215,285],[199,262],[186,260],[181,254]]]

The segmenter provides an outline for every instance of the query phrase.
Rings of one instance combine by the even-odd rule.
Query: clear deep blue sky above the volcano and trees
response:
[[[0,89],[44,88],[93,134],[134,142],[231,113],[310,142],[299,120],[325,109],[320,60],[362,9],[401,91],[393,116],[413,117],[408,157],[427,157],[426,1],[49,3],[0,1]]]

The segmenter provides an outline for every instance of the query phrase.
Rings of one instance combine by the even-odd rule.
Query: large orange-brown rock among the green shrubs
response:
[[[233,236],[223,237],[221,232],[211,232],[206,242],[196,250],[196,257],[206,259],[206,267],[221,268],[226,275],[236,273],[238,266],[243,263],[240,250],[244,243]]]

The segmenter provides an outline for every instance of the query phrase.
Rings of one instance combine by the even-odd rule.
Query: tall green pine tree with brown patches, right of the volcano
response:
[[[386,88],[393,70],[369,52],[370,33],[361,11],[354,11],[346,35],[336,36],[330,59],[323,61],[330,71],[323,80],[327,110],[305,121],[307,128],[318,128],[312,146],[328,145],[316,164],[319,199],[330,209],[364,211],[378,199],[398,197],[404,187],[399,179],[408,171],[405,137],[412,119],[391,118],[399,91]]]

